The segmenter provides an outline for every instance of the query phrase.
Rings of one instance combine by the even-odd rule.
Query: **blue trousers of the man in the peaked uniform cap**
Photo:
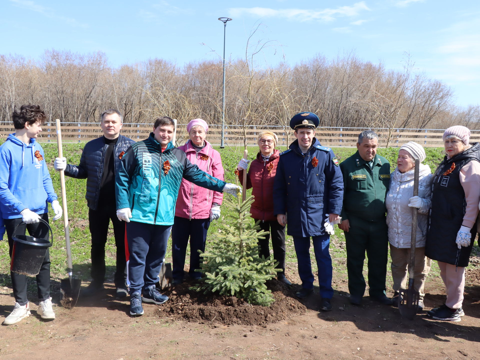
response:
[[[318,283],[320,286],[320,295],[322,298],[331,299],[333,296],[332,288],[332,258],[328,248],[330,246],[330,236],[312,236],[313,251],[318,267]],[[293,244],[297,254],[299,276],[302,282],[302,288],[313,288],[312,263],[310,260],[310,237],[294,236]]]

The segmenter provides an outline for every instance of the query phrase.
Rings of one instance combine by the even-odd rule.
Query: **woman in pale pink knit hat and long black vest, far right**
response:
[[[477,234],[480,146],[470,144],[465,126],[445,130],[446,156],[432,180],[425,255],[436,260],[445,284],[444,305],[427,312],[436,320],[460,321],[465,267]]]

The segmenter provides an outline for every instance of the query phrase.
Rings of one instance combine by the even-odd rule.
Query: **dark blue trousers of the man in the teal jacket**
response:
[[[155,286],[167,252],[171,228],[137,221],[127,223],[130,295]]]

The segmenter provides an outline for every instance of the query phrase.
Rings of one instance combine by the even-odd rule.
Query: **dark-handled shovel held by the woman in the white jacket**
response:
[[[413,196],[419,194],[420,160],[415,159],[415,172],[413,178]],[[418,209],[412,208],[412,237],[410,240],[410,261],[408,262],[408,289],[399,290],[398,310],[400,314],[413,320],[418,311],[420,293],[415,291],[415,279],[413,269],[415,267],[415,247],[417,245],[417,213]]]

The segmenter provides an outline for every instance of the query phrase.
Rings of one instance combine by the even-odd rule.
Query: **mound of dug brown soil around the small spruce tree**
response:
[[[278,280],[267,281],[275,302],[270,306],[250,305],[243,299],[199,293],[190,290],[193,284],[183,283],[166,292],[167,306],[158,309],[158,316],[200,324],[264,325],[304,314],[307,308],[295,299],[294,291]]]

